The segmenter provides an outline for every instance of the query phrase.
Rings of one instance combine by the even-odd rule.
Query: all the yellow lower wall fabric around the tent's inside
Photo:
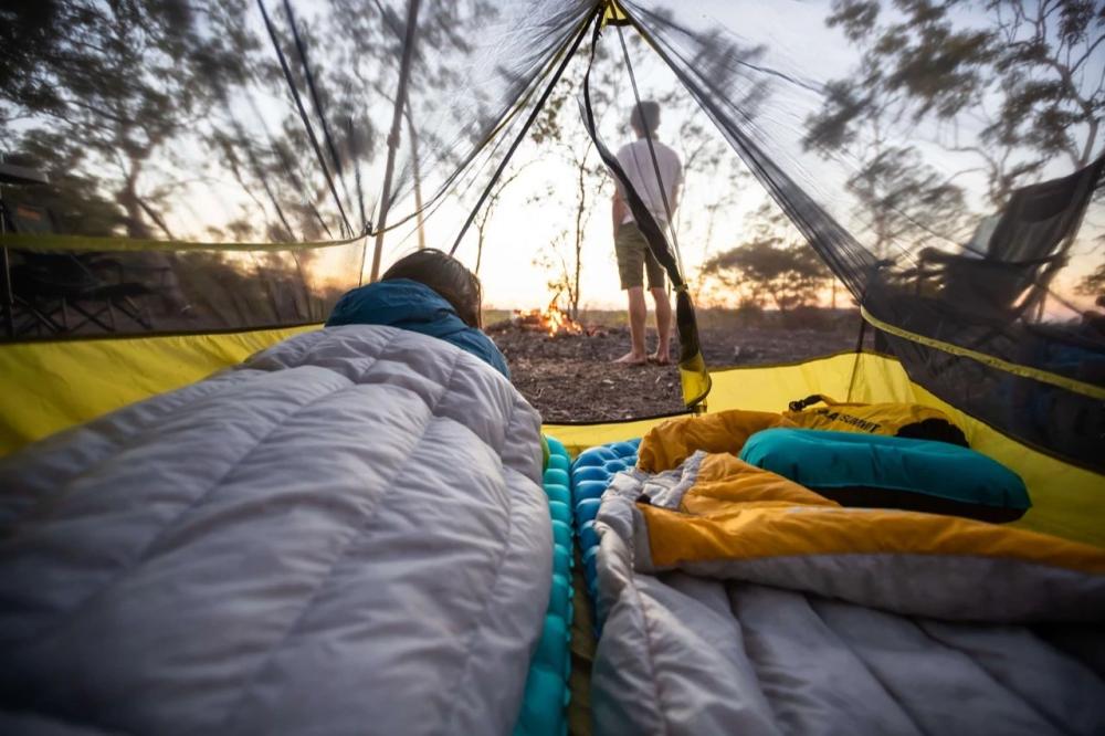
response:
[[[4,386],[0,392],[0,455],[133,401],[200,380],[278,340],[315,328],[0,346]],[[1105,547],[1105,508],[1099,502],[1105,476],[1038,452],[971,419],[913,383],[892,358],[845,353],[794,365],[717,370],[711,377],[711,412],[779,412],[790,401],[811,393],[935,407],[965,429],[974,449],[1024,480],[1033,507],[1015,523],[1018,526]],[[548,424],[545,432],[578,452],[642,437],[663,421]]]

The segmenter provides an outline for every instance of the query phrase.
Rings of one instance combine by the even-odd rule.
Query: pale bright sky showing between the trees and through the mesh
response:
[[[694,3],[680,0],[642,0],[648,6],[667,7],[677,11],[678,20],[691,27],[693,33],[708,33],[724,28],[737,41],[746,44],[762,43],[768,48],[765,65],[772,70],[800,77],[803,82],[820,84],[829,80],[846,76],[856,60],[855,52],[843,39],[839,29],[829,29],[824,18],[831,6],[821,0],[777,0],[765,3],[761,0],[698,0]],[[394,4],[394,3],[392,3]],[[400,3],[401,4],[401,3]],[[299,3],[296,6],[299,8]],[[324,8],[325,4],[319,6]],[[304,3],[304,15],[309,20],[309,3]],[[514,8],[511,6],[511,8]],[[628,30],[632,34],[634,31]],[[608,33],[603,39],[606,45],[617,53],[615,40]],[[474,43],[494,45],[498,43],[494,33],[487,39],[475,39]],[[495,49],[490,49],[494,59]],[[1101,48],[1105,52],[1105,48]],[[1098,66],[1105,70],[1105,53],[1101,54]],[[487,60],[484,59],[484,63]],[[573,69],[586,64],[582,54],[572,61]],[[680,90],[677,81],[671,71],[651,53],[643,49],[634,53],[634,64],[644,98],[656,97],[672,90]],[[375,91],[366,93],[366,98],[373,105],[367,112],[373,122],[390,119],[390,102],[386,96]],[[633,96],[623,75],[614,90],[608,90],[614,102],[607,109],[597,109],[600,116],[600,135],[611,149],[617,149],[629,140],[630,132],[625,120],[633,106]],[[685,93],[684,93],[685,94]],[[474,95],[464,91],[460,95],[462,102],[471,103]],[[798,178],[798,183],[815,201],[822,203],[838,221],[845,223],[862,241],[863,233],[856,228],[853,214],[849,210],[850,202],[842,197],[843,180],[855,161],[846,155],[839,155],[827,160],[804,151],[800,145],[804,129],[806,117],[820,105],[820,97],[813,93],[803,92],[798,87],[780,85],[776,90],[770,107],[758,120],[767,144],[774,146],[770,154],[776,156],[780,165]],[[236,108],[235,114],[243,118],[262,117],[278,120],[287,109],[287,99],[271,96],[254,101],[254,109]],[[432,102],[432,101],[431,101]],[[690,103],[688,99],[684,102]],[[366,103],[366,104],[369,104]],[[573,108],[569,103],[568,107]],[[696,115],[707,130],[714,135],[716,130],[706,116],[693,103],[680,109],[697,111]],[[439,111],[440,112],[440,111]],[[568,112],[573,112],[570,109]],[[420,113],[421,114],[421,113]],[[432,111],[430,112],[432,114]],[[659,132],[659,139],[681,150],[677,130],[683,122],[684,113],[665,111]],[[448,115],[441,114],[444,120]],[[568,125],[577,139],[586,140],[582,123],[578,116],[568,115]],[[380,124],[377,124],[380,127]],[[924,133],[924,132],[922,132]],[[263,134],[263,130],[257,130]],[[969,136],[970,133],[968,132]],[[719,139],[719,136],[716,138]],[[906,143],[917,143],[907,140]],[[193,160],[201,160],[202,151],[191,150],[194,141],[186,144],[175,157],[151,161],[150,167],[160,166],[168,172],[167,178],[188,178],[194,172],[188,170]],[[696,167],[686,169],[685,187],[682,194],[681,211],[677,217],[677,235],[687,275],[692,283],[697,275],[698,266],[712,254],[738,245],[748,232],[750,213],[766,201],[762,187],[750,176],[739,161],[736,154],[725,147],[726,164],[723,176],[711,176]],[[924,146],[924,144],[920,144]],[[957,171],[965,167],[964,159],[939,151],[933,146],[925,148],[928,160],[935,162],[945,171]],[[312,166],[309,153],[305,153],[305,167]],[[597,154],[592,151],[592,160]],[[169,160],[172,158],[173,160]],[[369,191],[369,201],[375,200],[382,180],[382,159],[377,157],[375,168],[366,168],[364,180]],[[494,161],[493,161],[494,162]],[[1062,161],[1056,164],[1049,175],[1065,174]],[[565,231],[570,239],[573,222],[571,221],[571,200],[575,197],[573,171],[548,146],[540,146],[527,139],[512,160],[506,176],[519,171],[518,178],[506,189],[499,201],[487,231],[487,240],[481,264],[480,275],[484,283],[485,304],[498,308],[532,308],[547,304],[552,294],[547,282],[548,274],[535,260],[550,252],[551,244],[561,238]],[[486,170],[485,170],[486,171]],[[746,175],[734,183],[728,171],[744,171]],[[228,171],[217,172],[221,181],[203,180],[201,186],[189,190],[189,196],[175,200],[173,211],[169,220],[178,233],[188,233],[197,239],[203,239],[202,228],[190,228],[197,222],[230,222],[240,212],[251,210],[255,213],[255,202],[246,199],[241,188],[232,180]],[[438,175],[446,174],[439,170]],[[980,191],[978,181],[970,181],[967,175],[960,179]],[[320,178],[320,177],[319,177]],[[156,182],[155,182],[156,183]],[[318,183],[318,182],[316,182]],[[432,182],[431,182],[432,183]],[[478,191],[478,189],[476,190]],[[469,206],[474,201],[474,193],[466,199],[446,198],[435,208],[425,223],[427,244],[449,250],[460,230],[461,223],[469,213]],[[610,219],[610,197],[612,182],[608,182],[598,197],[590,212],[590,220],[585,230],[585,246],[582,253],[581,306],[583,308],[621,308],[624,305],[624,294],[619,288],[617,264],[613,256],[613,236]],[[706,206],[723,196],[733,200],[719,209],[713,221],[706,217]],[[976,200],[978,198],[976,197]],[[978,201],[971,202],[976,211],[985,211],[985,206]],[[264,204],[262,204],[264,207]],[[835,208],[835,209],[834,209]],[[413,203],[408,198],[400,201],[393,209],[392,218],[408,213]],[[1095,245],[1094,235],[1105,230],[1105,213],[1102,207],[1096,207],[1086,218],[1083,228],[1084,245],[1080,244],[1078,257],[1069,267],[1056,286],[1070,292],[1077,276],[1085,274],[1101,261],[1102,249]],[[270,213],[270,219],[272,214]],[[417,248],[418,239],[414,223],[387,233],[385,238],[383,267],[399,256]],[[1095,251],[1094,249],[1098,250]],[[472,228],[457,251],[457,255],[470,266],[475,265],[476,232]],[[343,262],[343,267],[348,267]],[[1065,280],[1065,281],[1064,281]]]

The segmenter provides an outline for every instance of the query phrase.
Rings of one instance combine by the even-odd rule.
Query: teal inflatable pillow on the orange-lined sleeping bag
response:
[[[1032,505],[1017,473],[981,453],[946,442],[770,429],[753,434],[740,459],[842,506],[1011,522]]]

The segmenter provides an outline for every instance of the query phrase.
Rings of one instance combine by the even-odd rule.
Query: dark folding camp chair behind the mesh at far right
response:
[[[970,254],[924,249],[914,295],[933,297],[956,319],[1010,325],[1042,305],[1048,285],[1064,265],[1105,157],[1074,174],[1015,190],[1004,210],[976,230]]]

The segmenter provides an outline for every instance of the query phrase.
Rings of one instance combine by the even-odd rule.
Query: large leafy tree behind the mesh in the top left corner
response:
[[[244,3],[221,3],[204,19],[218,22],[211,29],[171,0],[18,6],[17,25],[32,25],[41,46],[17,44],[25,59],[0,75],[6,134],[18,129],[8,125],[15,118],[49,120],[59,143],[96,157],[128,235],[172,238],[164,209],[176,187],[157,169],[173,162],[169,144],[218,102],[207,82],[233,76],[255,46],[245,33]],[[144,186],[151,177],[157,183]]]

